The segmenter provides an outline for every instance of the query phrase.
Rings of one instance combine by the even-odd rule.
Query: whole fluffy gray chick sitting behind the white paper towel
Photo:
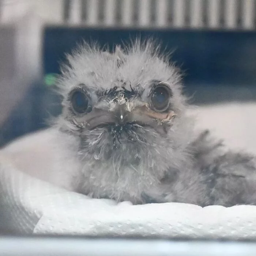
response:
[[[134,204],[256,203],[254,158],[225,153],[208,131],[195,132],[180,72],[158,45],[135,42],[113,53],[83,45],[67,59],[55,184]]]

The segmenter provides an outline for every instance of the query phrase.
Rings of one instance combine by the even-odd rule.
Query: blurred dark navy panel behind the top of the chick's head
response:
[[[239,31],[192,30],[113,30],[47,28],[45,30],[45,72],[59,72],[64,52],[71,52],[79,42],[98,41],[113,45],[130,38],[154,37],[173,52],[173,60],[185,71],[185,84],[207,85],[256,83],[256,33]]]

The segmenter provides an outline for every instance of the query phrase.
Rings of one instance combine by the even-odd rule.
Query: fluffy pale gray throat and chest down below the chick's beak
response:
[[[166,173],[184,162],[184,149],[150,128],[130,134],[114,127],[113,133],[98,128],[80,135],[79,192],[134,203],[144,194],[159,195]]]

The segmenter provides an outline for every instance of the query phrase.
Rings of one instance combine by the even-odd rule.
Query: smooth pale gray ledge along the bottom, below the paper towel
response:
[[[0,238],[3,256],[252,256],[256,244],[249,242],[196,242],[83,238]]]

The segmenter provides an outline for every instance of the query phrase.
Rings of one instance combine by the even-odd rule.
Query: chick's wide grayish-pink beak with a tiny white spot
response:
[[[83,117],[75,117],[78,124],[89,129],[104,127],[106,125],[123,125],[125,123],[137,123],[141,126],[151,126],[158,128],[159,124],[168,123],[176,114],[173,111],[168,113],[158,113],[148,109],[146,106],[137,107],[132,112],[125,109],[125,104],[112,111],[94,108]]]

